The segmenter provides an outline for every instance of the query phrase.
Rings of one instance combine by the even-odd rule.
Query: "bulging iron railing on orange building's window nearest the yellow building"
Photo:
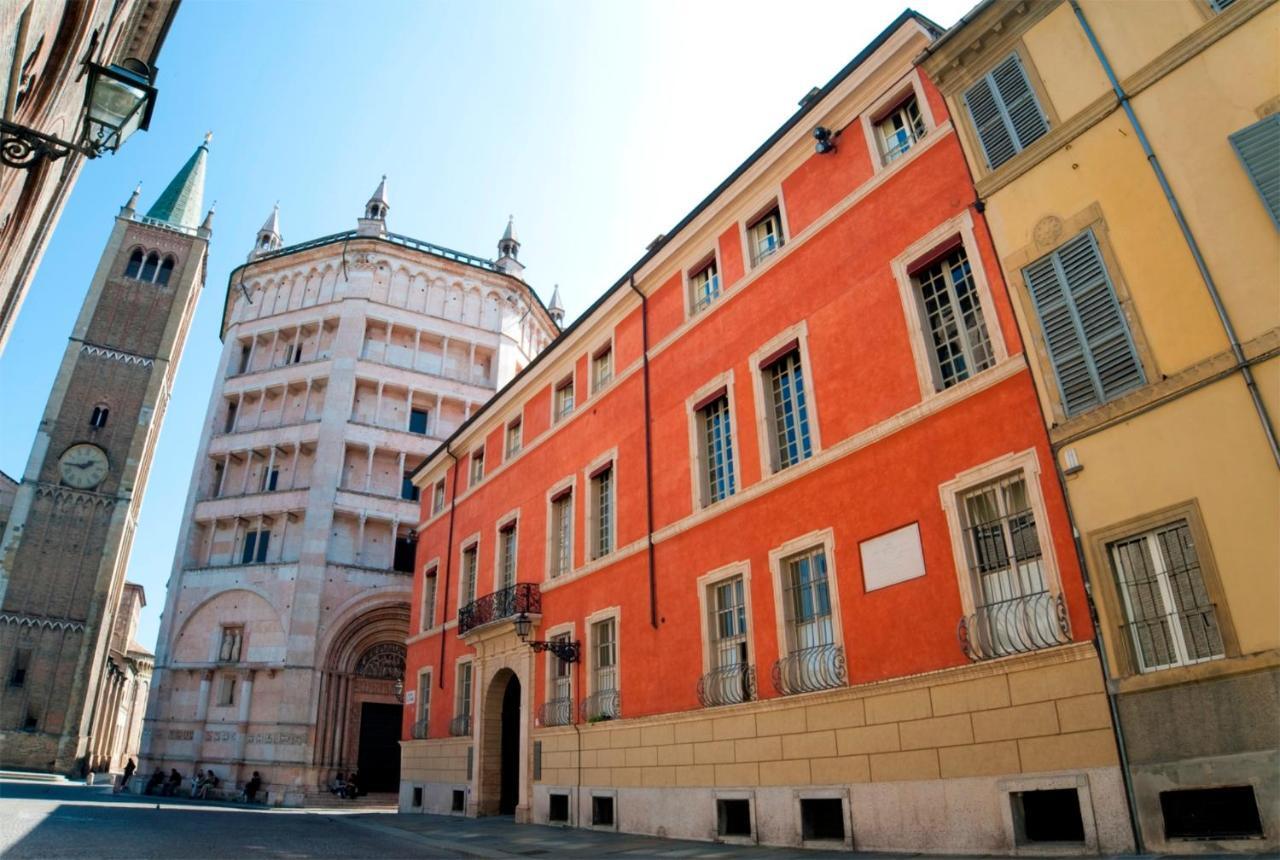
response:
[[[1036,591],[978,607],[956,626],[956,639],[970,660],[1027,654],[1071,641],[1061,594]]]

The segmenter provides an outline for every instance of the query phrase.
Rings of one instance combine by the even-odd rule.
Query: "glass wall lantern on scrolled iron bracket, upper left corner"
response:
[[[140,128],[151,124],[156,90],[151,69],[129,58],[119,65],[84,63],[84,123],[77,141],[63,141],[33,128],[0,119],[0,163],[29,170],[44,160],[56,161],[72,152],[96,159],[115,152]]]

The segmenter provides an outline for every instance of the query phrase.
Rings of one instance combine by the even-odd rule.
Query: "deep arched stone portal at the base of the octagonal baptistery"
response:
[[[403,683],[407,635],[408,604],[394,603],[349,619],[330,640],[316,715],[323,783],[338,772],[356,770],[364,791],[399,788],[403,704],[397,682]]]

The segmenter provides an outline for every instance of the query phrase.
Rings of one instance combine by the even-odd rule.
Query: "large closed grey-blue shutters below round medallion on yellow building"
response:
[[[1068,415],[1147,381],[1092,230],[1027,266],[1023,275]]]

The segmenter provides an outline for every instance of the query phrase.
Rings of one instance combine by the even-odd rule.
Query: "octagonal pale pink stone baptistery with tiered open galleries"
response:
[[[279,214],[232,271],[169,580],[140,776],[212,769],[300,805],[399,778],[417,525],[407,472],[558,333],[508,223],[490,261],[387,230],[294,246]]]

